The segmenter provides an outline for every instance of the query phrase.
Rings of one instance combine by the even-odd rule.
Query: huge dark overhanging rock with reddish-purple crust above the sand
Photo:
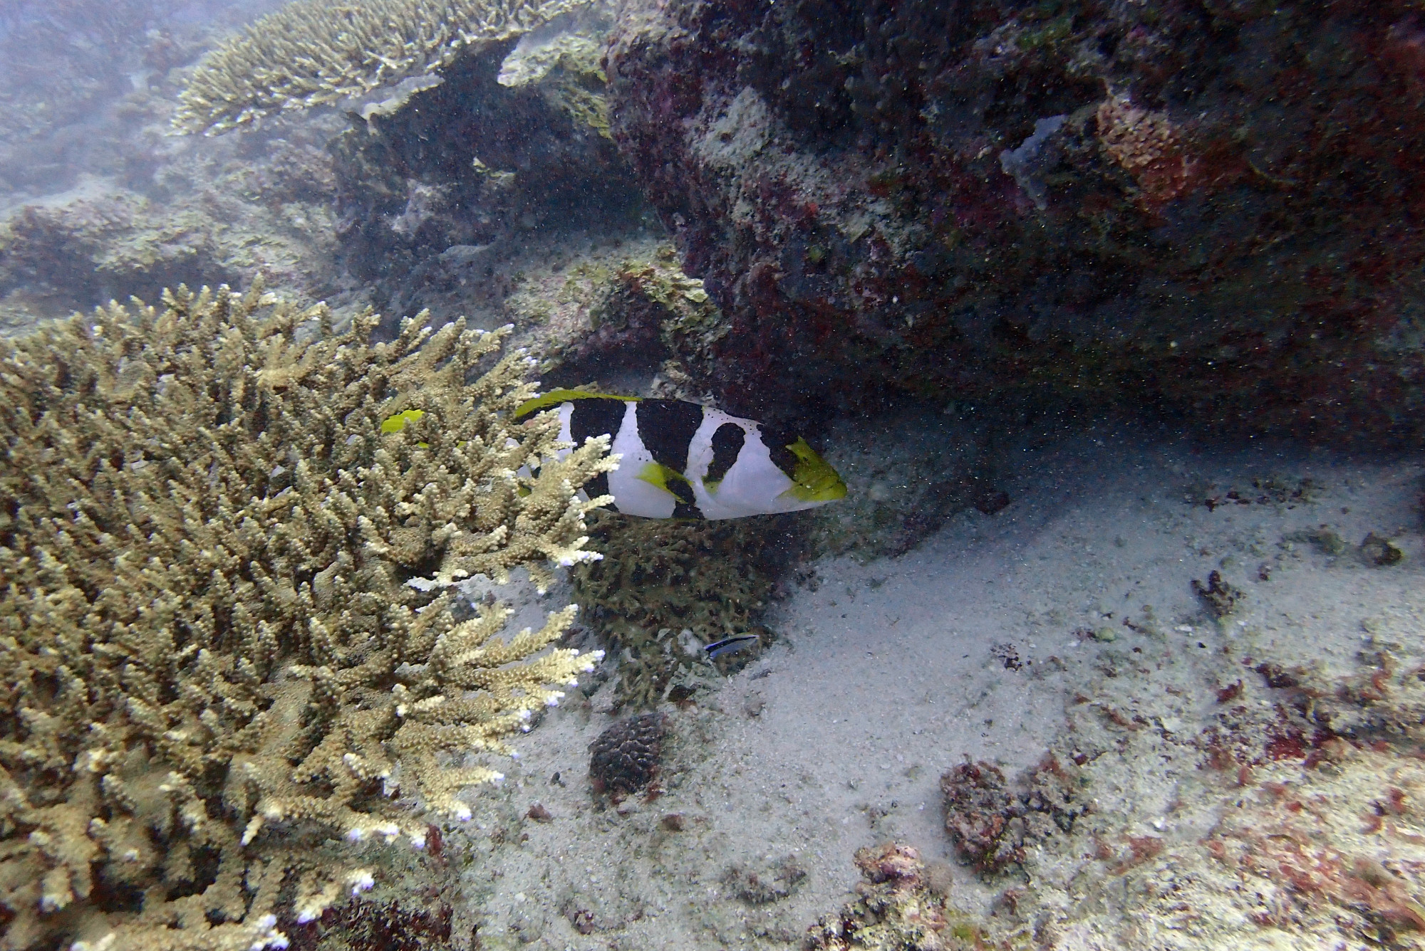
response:
[[[1320,440],[1425,423],[1404,0],[648,0],[607,73],[731,329],[677,356],[735,411],[1017,392]]]

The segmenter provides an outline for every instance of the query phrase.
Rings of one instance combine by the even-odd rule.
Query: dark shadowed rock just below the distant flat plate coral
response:
[[[607,135],[600,23],[467,50],[346,114],[329,147],[338,263],[375,302],[493,313],[589,233],[640,224],[637,184]]]

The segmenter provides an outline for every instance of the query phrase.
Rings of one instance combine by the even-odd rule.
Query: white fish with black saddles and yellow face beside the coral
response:
[[[616,511],[646,518],[741,518],[815,508],[846,484],[807,440],[684,400],[553,390],[516,419],[559,413],[560,438],[611,437],[618,468],[584,485]]]

